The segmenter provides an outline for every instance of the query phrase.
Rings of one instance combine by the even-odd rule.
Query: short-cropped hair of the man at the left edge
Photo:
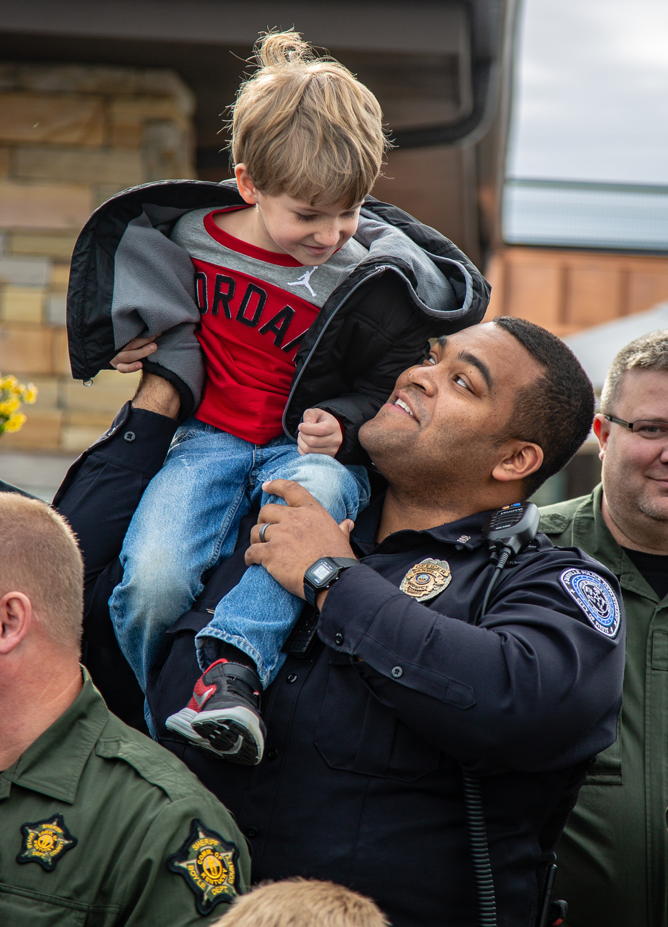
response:
[[[27,596],[38,628],[57,645],[79,651],[83,564],[67,522],[49,505],[0,493],[0,601]]]

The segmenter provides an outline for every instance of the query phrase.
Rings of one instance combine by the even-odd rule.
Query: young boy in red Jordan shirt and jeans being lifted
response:
[[[363,461],[359,425],[397,373],[422,362],[427,336],[479,322],[488,298],[473,265],[406,213],[360,221],[387,144],[372,93],[294,32],[264,36],[258,64],[233,107],[242,202],[182,210],[170,232],[195,269],[206,383],[132,518],[123,578],[109,600],[143,687],[165,630],[191,607],[203,574],[233,552],[241,517],[254,502],[283,502],[263,484],[296,480],[337,522],[357,517],[370,496],[355,463]],[[341,319],[347,348],[342,337],[332,343],[327,363],[334,359],[337,373],[327,374],[325,363],[319,377],[319,346],[328,327],[341,331]],[[140,369],[165,329],[153,330],[112,364]],[[309,338],[308,356],[302,349],[297,358]],[[310,407],[301,407],[291,433],[300,380]],[[233,762],[258,763],[266,733],[259,696],[284,662],[281,648],[302,605],[262,567],[249,567],[197,634],[203,675],[168,728]]]

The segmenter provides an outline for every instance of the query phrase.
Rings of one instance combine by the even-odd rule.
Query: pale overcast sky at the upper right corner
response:
[[[523,0],[507,173],[668,184],[668,0]]]

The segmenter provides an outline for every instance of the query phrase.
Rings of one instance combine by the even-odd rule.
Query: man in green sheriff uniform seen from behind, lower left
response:
[[[82,559],[44,502],[0,493],[0,923],[213,922],[246,841],[79,665]]]

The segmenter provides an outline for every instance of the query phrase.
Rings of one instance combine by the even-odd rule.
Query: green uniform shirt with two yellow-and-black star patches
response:
[[[83,670],[68,710],[0,773],[0,924],[185,927],[246,891],[246,841]]]

